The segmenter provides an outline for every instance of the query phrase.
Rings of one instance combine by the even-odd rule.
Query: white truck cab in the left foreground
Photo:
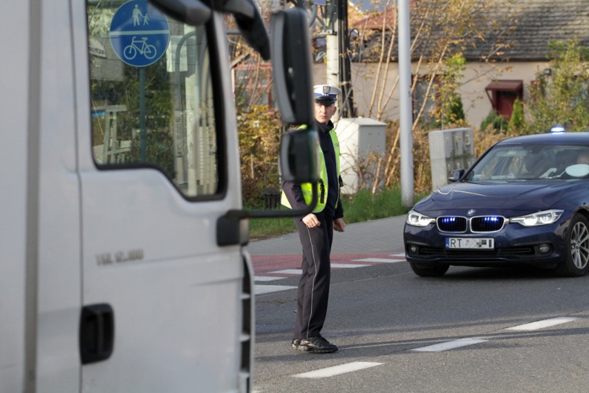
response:
[[[247,218],[286,213],[243,210],[225,17],[308,124],[304,12],[270,41],[252,0],[1,3],[0,392],[250,392]],[[312,180],[313,132],[282,143]]]

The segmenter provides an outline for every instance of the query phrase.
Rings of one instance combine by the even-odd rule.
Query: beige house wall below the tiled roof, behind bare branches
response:
[[[413,70],[415,64],[412,65]],[[485,87],[492,80],[521,80],[523,81],[524,102],[529,94],[530,82],[536,79],[536,73],[543,72],[548,68],[548,62],[509,62],[501,64],[471,63],[462,77],[462,85],[458,93],[462,95],[462,106],[464,107],[466,120],[471,127],[480,127],[480,122],[487,117],[492,110],[491,100],[485,92]],[[398,65],[389,64],[389,71],[386,74],[384,93],[378,91],[373,98],[375,81],[383,80],[384,66],[378,71],[378,64],[352,63],[352,86],[354,104],[357,107],[359,117],[368,117],[375,120],[386,121],[396,120],[399,116],[399,91]],[[325,83],[326,65],[314,64],[313,73],[315,84]],[[390,98],[387,95],[391,94]],[[489,92],[490,93],[490,92]],[[387,102],[388,100],[388,102]],[[371,102],[375,102],[372,104]],[[378,104],[380,102],[380,104]],[[377,108],[381,108],[377,110]]]

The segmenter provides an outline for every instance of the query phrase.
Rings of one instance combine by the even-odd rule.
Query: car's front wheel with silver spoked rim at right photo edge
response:
[[[580,277],[589,270],[589,221],[575,214],[570,222],[565,260],[555,269],[565,277]]]

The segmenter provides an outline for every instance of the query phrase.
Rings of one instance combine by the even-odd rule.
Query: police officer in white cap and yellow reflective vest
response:
[[[329,298],[330,252],[333,230],[344,232],[344,209],[339,198],[339,141],[333,129],[332,116],[341,91],[335,86],[319,84],[313,88],[315,96],[315,128],[319,134],[319,181],[297,184],[282,183],[281,203],[289,208],[302,209],[311,202],[312,187],[318,191],[315,209],[305,217],[295,217],[299,239],[303,246],[303,273],[297,294],[297,321],[291,348],[312,354],[337,351],[337,346],[321,336]]]

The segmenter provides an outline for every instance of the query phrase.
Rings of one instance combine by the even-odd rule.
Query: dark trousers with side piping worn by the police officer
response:
[[[307,228],[301,219],[294,219],[303,246],[303,274],[299,279],[294,338],[318,336],[327,315],[333,217],[323,213],[315,215],[321,223],[315,228]]]

